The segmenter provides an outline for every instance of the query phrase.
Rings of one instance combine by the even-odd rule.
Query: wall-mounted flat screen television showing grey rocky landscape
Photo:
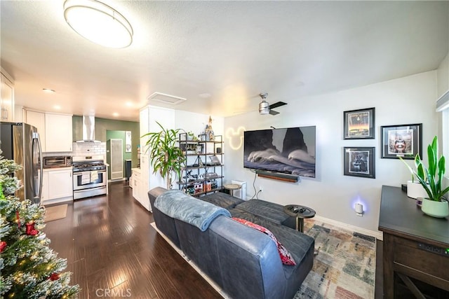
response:
[[[243,167],[315,177],[316,127],[245,131]]]

